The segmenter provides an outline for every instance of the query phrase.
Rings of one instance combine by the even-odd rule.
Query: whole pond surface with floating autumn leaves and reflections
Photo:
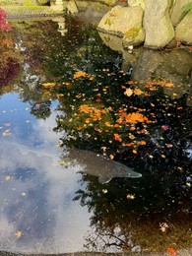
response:
[[[11,26],[0,33],[0,250],[190,247],[192,48],[125,49],[71,17]]]

